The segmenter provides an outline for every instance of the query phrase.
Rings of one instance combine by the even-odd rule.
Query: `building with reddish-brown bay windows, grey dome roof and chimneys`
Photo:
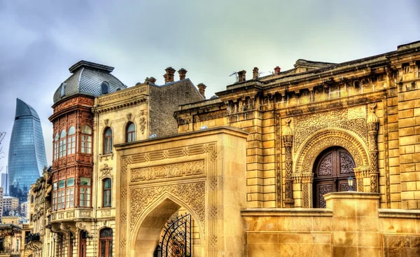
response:
[[[50,117],[54,153],[47,184],[52,189],[45,196],[51,196],[47,216],[53,251],[55,256],[115,256],[113,145],[176,134],[174,111],[204,97],[185,69],[179,70],[179,81],[169,67],[164,85],[151,77],[132,88],[102,64],[80,61],[69,71],[72,75],[55,92]]]

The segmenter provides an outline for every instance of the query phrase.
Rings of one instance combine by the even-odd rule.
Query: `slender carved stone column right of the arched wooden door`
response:
[[[378,143],[379,118],[374,114],[376,104],[369,104],[370,113],[367,116],[367,139],[369,140],[370,159],[370,193],[378,193]]]

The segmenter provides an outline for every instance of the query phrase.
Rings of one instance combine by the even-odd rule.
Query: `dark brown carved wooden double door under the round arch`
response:
[[[354,167],[354,160],[346,149],[334,147],[323,151],[314,164],[314,207],[326,207],[323,197],[326,193],[349,190],[347,179],[354,178]]]

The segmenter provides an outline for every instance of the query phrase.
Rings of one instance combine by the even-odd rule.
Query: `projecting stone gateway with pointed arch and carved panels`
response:
[[[157,246],[176,214],[192,217],[200,239],[190,255],[240,255],[247,135],[218,127],[117,145],[116,256],[167,251]]]

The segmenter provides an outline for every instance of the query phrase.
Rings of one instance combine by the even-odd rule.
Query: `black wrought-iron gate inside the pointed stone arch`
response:
[[[168,221],[160,243],[162,257],[191,256],[191,214]]]

